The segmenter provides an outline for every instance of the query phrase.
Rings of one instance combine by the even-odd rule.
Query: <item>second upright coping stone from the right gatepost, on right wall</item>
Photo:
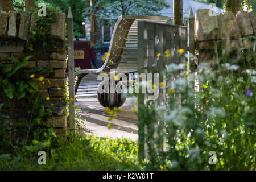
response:
[[[240,30],[232,11],[218,14],[218,24],[220,26],[221,39],[240,38]]]

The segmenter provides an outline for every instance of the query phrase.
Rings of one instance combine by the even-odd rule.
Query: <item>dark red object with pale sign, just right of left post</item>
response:
[[[74,61],[75,68],[80,67],[81,69],[92,69],[90,60],[96,60],[96,53],[87,41],[74,41]]]

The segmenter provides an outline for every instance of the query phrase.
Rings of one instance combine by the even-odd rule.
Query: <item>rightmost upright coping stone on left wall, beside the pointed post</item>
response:
[[[53,38],[62,40],[64,42],[65,35],[66,35],[66,31],[65,31],[66,15],[65,13],[61,13],[58,11],[56,11],[55,15],[56,15],[56,22],[52,23],[51,25],[51,35]]]

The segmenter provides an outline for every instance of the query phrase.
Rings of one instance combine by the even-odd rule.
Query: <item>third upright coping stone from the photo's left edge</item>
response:
[[[22,11],[19,26],[19,38],[22,40],[27,40],[28,31],[30,28],[30,16],[28,11]]]

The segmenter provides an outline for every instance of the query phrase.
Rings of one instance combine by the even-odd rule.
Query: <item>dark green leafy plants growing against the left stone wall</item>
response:
[[[32,81],[35,74],[49,72],[48,69],[33,68],[24,72],[22,69],[28,56],[23,61],[13,57],[10,58],[11,64],[1,65],[0,67],[0,93],[4,94],[4,100],[9,102],[9,115],[3,114],[3,104],[0,104],[0,154],[19,150],[32,150],[32,148],[44,148],[46,141],[51,141],[56,137],[53,129],[49,128],[47,119],[51,111],[44,109],[38,85]],[[11,101],[24,100],[26,102],[27,120],[16,121],[13,123],[14,108]],[[5,107],[7,107],[5,105]],[[5,109],[6,110],[6,109]],[[6,121],[5,121],[6,120]],[[35,143],[36,140],[42,142]],[[33,142],[32,142],[33,141]]]

